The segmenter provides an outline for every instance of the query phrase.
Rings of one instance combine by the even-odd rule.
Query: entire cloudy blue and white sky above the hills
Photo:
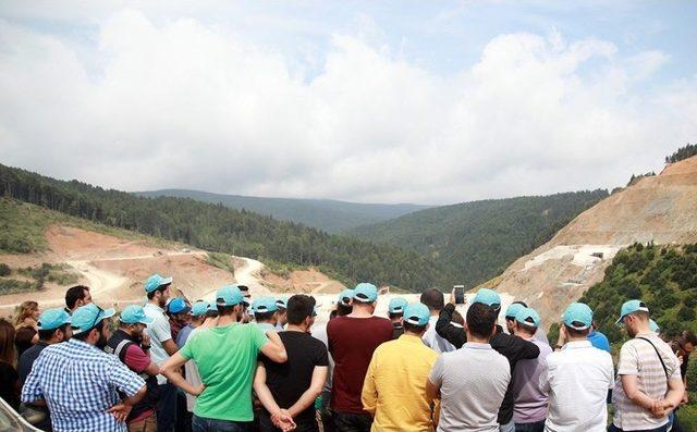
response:
[[[0,163],[122,190],[454,203],[697,143],[694,1],[7,1]]]

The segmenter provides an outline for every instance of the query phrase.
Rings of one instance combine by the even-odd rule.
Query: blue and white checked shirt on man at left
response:
[[[117,391],[129,397],[145,382],[115,356],[77,340],[46,347],[22,388],[22,402],[46,399],[56,432],[123,432],[107,410]]]

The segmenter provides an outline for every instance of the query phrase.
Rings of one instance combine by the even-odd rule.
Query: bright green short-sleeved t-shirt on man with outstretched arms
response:
[[[194,414],[216,420],[252,421],[252,381],[257,356],[268,342],[256,324],[230,324],[201,330],[180,354],[198,366],[206,390]]]

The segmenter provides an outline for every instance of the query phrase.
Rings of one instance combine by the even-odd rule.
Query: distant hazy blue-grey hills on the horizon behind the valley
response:
[[[274,219],[302,223],[328,233],[339,233],[428,208],[428,206],[413,203],[381,205],[333,199],[261,198],[187,189],[137,192],[134,195],[149,198],[191,198],[203,202],[222,203],[231,209],[245,209],[271,215]]]

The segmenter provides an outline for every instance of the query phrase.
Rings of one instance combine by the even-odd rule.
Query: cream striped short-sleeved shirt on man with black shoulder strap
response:
[[[650,411],[633,403],[626,396],[622,386],[622,375],[637,375],[639,391],[650,398],[662,399],[668,393],[665,371],[656,354],[656,349],[647,341],[643,341],[639,337],[651,341],[658,348],[671,380],[681,379],[677,357],[656,333],[639,333],[635,338],[622,345],[617,365],[617,378],[612,392],[612,404],[614,404],[613,423],[625,431],[656,429],[668,423],[667,417],[656,418],[651,416]]]

